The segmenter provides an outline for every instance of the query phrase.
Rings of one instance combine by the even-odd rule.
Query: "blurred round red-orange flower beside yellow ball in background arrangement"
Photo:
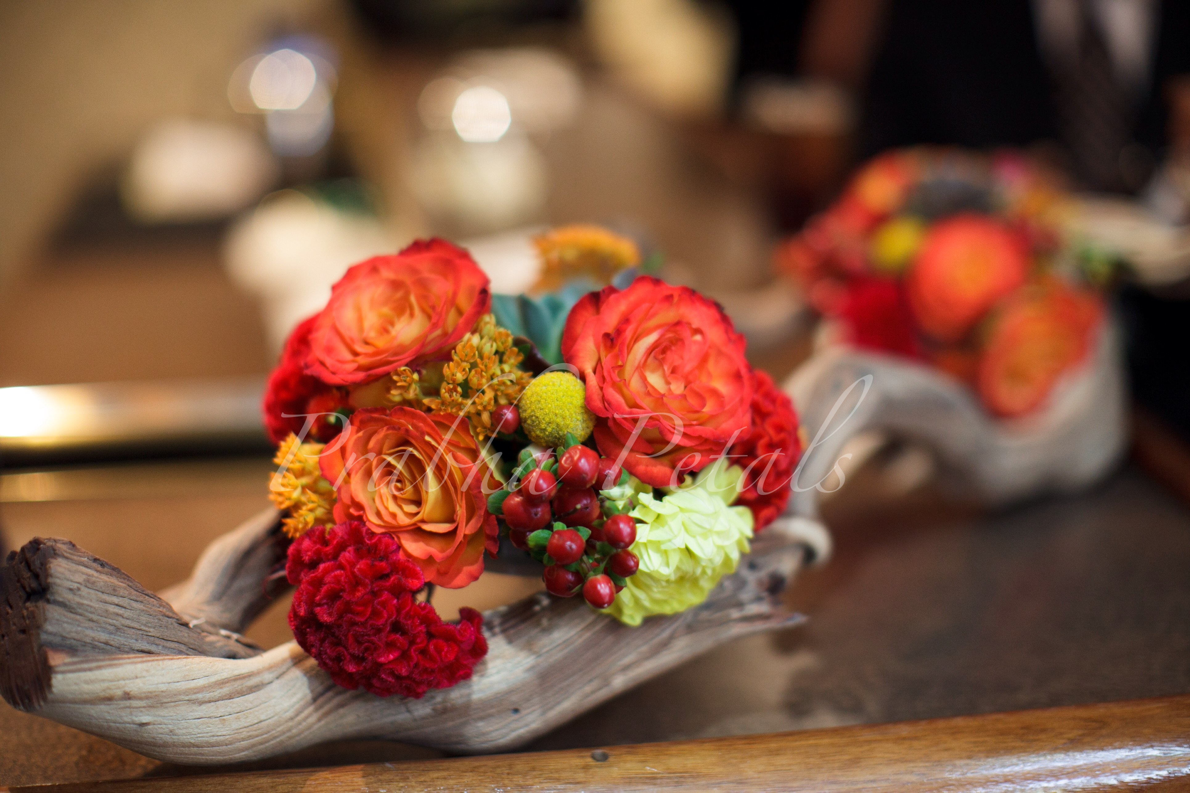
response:
[[[1019,235],[982,215],[963,214],[929,228],[906,287],[917,326],[939,341],[959,341],[1001,297],[1025,283],[1028,252]]]

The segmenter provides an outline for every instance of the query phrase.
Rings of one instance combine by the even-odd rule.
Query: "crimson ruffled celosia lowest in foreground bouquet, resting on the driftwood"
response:
[[[286,574],[298,587],[294,638],[344,688],[416,699],[466,680],[488,652],[480,612],[459,609],[461,621],[447,623],[414,600],[421,568],[358,521],[300,536]]]

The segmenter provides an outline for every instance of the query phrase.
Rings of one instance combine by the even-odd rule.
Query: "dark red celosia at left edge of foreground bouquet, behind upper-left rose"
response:
[[[286,339],[281,363],[269,376],[264,389],[264,428],[274,443],[283,441],[289,433],[301,434],[306,418],[320,414],[302,440],[328,441],[339,432],[339,424],[330,421],[331,415],[346,404],[339,389],[307,375],[303,370],[309,354],[309,332],[315,317],[299,323]]]

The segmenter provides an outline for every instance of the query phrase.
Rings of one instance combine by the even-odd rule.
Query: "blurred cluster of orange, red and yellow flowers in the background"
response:
[[[1021,416],[1085,358],[1104,313],[1067,210],[1058,180],[1019,155],[898,150],[776,262],[841,340],[932,364]]]

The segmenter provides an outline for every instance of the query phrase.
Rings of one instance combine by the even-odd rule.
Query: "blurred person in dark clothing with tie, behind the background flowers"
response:
[[[1190,73],[1184,0],[890,0],[863,153],[914,143],[1058,141],[1084,188],[1134,191]]]

